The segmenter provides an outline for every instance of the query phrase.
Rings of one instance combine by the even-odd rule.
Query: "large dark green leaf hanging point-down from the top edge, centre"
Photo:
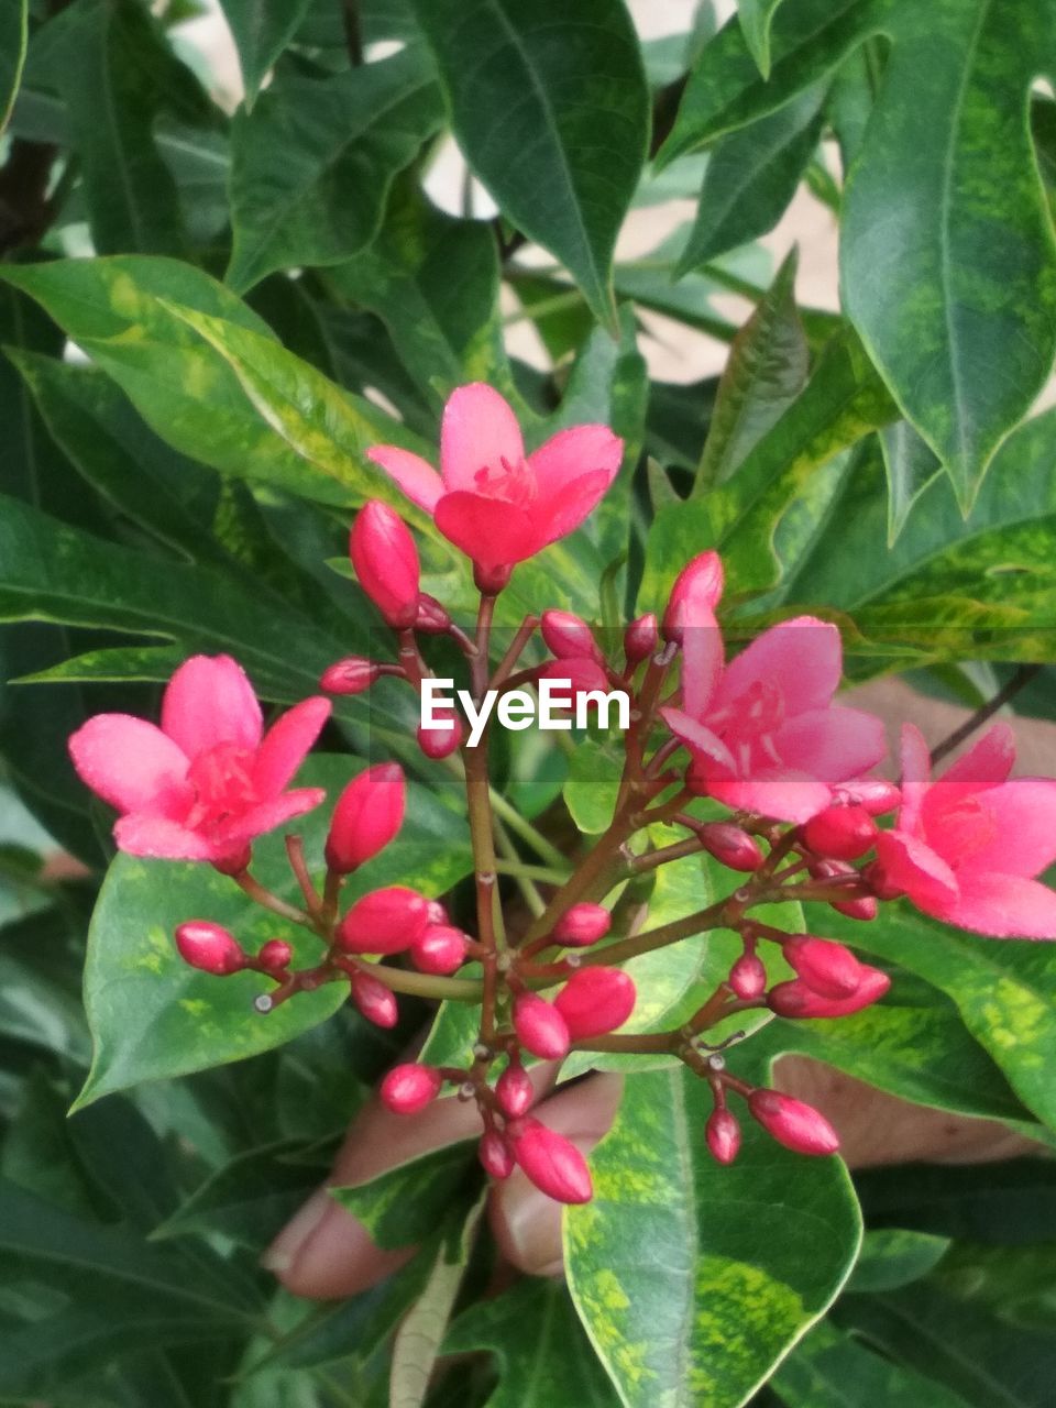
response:
[[[646,153],[649,92],[620,0],[415,0],[455,135],[503,214],[614,321],[612,249]]]

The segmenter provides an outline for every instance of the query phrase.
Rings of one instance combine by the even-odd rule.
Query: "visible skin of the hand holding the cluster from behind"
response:
[[[903,719],[918,724],[934,746],[967,717],[966,710],[924,700],[898,680],[866,686],[846,701],[887,721],[893,753]],[[1055,774],[1056,725],[1042,719],[1011,722],[1017,773]],[[593,1149],[615,1117],[622,1077],[594,1074],[558,1091],[552,1091],[551,1067],[536,1069],[532,1079],[548,1091],[532,1112],[584,1153]],[[1002,1125],[910,1105],[805,1057],[784,1057],[776,1067],[774,1084],[825,1114],[841,1135],[850,1167],[918,1160],[983,1163],[1035,1149]],[[477,1132],[476,1108],[455,1098],[436,1101],[414,1118],[393,1115],[372,1101],[353,1121],[328,1183],[365,1183],[415,1155]],[[489,1215],[511,1266],[534,1276],[560,1274],[560,1208],[520,1170],[493,1187]],[[297,1295],[335,1298],[366,1290],[408,1255],[379,1250],[365,1228],[320,1188],[279,1233],[263,1263]]]

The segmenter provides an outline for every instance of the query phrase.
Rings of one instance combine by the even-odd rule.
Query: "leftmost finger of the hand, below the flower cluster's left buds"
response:
[[[552,1064],[534,1067],[536,1090],[549,1088],[553,1073]],[[369,1183],[386,1169],[479,1133],[480,1115],[473,1101],[446,1097],[407,1117],[394,1115],[377,1098],[370,1100],[353,1121],[327,1186],[287,1222],[262,1264],[294,1295],[315,1300],[355,1295],[380,1281],[403,1266],[414,1249],[383,1252],[327,1188]]]

